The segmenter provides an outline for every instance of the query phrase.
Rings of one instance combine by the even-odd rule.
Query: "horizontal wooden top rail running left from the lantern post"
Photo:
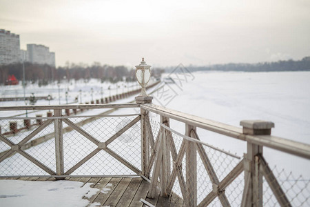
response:
[[[95,108],[138,108],[138,103],[106,103],[106,104],[66,104],[45,106],[1,106],[0,110],[61,110],[61,109],[95,109]]]

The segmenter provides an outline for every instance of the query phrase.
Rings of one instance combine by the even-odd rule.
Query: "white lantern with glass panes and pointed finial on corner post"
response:
[[[141,97],[147,97],[147,93],[145,91],[145,87],[147,86],[147,83],[149,82],[149,79],[151,77],[151,66],[147,65],[144,61],[144,58],[142,58],[141,63],[136,66],[136,79],[138,80],[138,83],[142,87],[141,89]]]

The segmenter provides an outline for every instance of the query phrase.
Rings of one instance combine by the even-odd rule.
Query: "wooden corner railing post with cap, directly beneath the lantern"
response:
[[[141,97],[135,98],[136,103],[152,103],[153,97]],[[147,126],[146,117],[149,115],[147,110],[141,108],[141,171],[142,175],[146,175],[147,164],[149,162],[149,141],[147,139]]]

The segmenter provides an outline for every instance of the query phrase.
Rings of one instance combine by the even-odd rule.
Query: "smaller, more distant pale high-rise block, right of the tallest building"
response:
[[[27,45],[28,61],[30,63],[48,64],[55,66],[55,52],[50,52],[50,48],[43,45]]]

